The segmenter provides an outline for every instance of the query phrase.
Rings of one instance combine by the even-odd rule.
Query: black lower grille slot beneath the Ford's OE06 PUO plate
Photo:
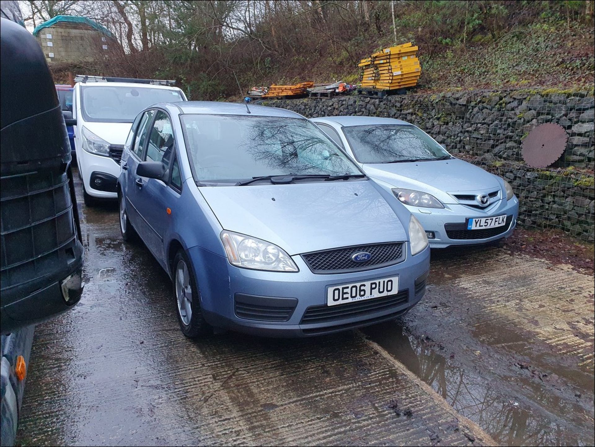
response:
[[[363,317],[406,304],[408,301],[409,289],[404,289],[396,295],[364,299],[347,304],[310,306],[304,312],[300,324],[332,323],[352,317]]]

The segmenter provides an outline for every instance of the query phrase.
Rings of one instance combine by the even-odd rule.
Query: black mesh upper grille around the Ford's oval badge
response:
[[[372,257],[365,262],[355,262],[351,256],[358,252],[368,252]],[[333,274],[371,270],[404,261],[405,243],[389,242],[337,248],[306,253],[302,258],[312,273]]]

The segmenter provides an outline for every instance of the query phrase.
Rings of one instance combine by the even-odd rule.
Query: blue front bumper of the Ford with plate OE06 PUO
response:
[[[417,304],[425,293],[425,278],[430,268],[430,249],[426,248],[421,253],[412,256],[409,251],[409,243],[406,243],[406,246],[408,254],[405,261],[399,264],[343,274],[314,274],[299,255],[292,258],[300,271],[284,273],[237,268],[230,265],[227,258],[199,247],[189,249],[188,253],[190,261],[195,266],[198,287],[201,292],[202,311],[208,323],[216,327],[255,335],[305,337],[394,320]],[[201,266],[201,268],[196,268],[196,266]],[[391,296],[386,297],[393,299],[394,305],[372,306],[372,308],[367,306],[365,311],[338,312],[341,315],[321,322],[302,322],[303,315],[308,308],[325,307],[340,310],[342,306],[349,306],[349,304],[340,304],[327,307],[328,286],[396,275],[399,276],[400,297],[398,300]],[[235,297],[245,295],[282,298],[281,301],[284,303],[294,302],[295,308],[287,321],[256,321],[240,318],[236,314]],[[358,304],[367,304],[367,301],[374,300],[363,300]],[[380,301],[381,298],[378,300]],[[359,309],[363,309],[363,307]]]

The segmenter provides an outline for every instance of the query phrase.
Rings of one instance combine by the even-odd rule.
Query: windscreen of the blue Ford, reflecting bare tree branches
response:
[[[258,176],[359,175],[318,127],[300,118],[181,115],[195,180],[235,183]]]

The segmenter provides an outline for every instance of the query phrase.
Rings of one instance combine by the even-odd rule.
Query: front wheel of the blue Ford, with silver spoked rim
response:
[[[212,327],[202,315],[201,295],[196,286],[192,264],[183,250],[177,252],[173,269],[171,277],[178,307],[180,329],[189,338],[198,338],[212,333]]]

